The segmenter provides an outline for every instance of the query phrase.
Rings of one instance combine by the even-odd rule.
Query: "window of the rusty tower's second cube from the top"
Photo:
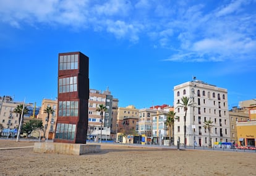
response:
[[[59,79],[59,93],[77,91],[77,77]]]

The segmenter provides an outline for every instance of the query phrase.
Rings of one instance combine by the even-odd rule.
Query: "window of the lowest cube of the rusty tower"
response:
[[[55,138],[63,140],[74,140],[75,128],[75,124],[57,124]]]

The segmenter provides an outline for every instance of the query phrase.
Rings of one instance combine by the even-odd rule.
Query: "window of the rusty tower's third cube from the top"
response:
[[[59,116],[78,116],[78,101],[59,101]]]

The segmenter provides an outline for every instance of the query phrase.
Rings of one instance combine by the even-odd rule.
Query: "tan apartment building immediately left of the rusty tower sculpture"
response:
[[[46,121],[48,114],[44,111],[47,107],[51,107],[53,109],[53,114],[49,114],[49,120]],[[57,112],[58,112],[58,100],[57,99],[43,99],[41,103],[40,113],[37,115],[37,119],[42,120],[43,127],[46,127],[45,136],[47,139],[52,140],[54,138],[54,132],[56,128],[57,122]],[[41,136],[43,137],[43,132],[41,132]]]

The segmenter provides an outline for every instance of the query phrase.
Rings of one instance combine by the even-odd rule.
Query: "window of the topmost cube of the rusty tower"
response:
[[[78,69],[78,54],[59,56],[59,70]]]

